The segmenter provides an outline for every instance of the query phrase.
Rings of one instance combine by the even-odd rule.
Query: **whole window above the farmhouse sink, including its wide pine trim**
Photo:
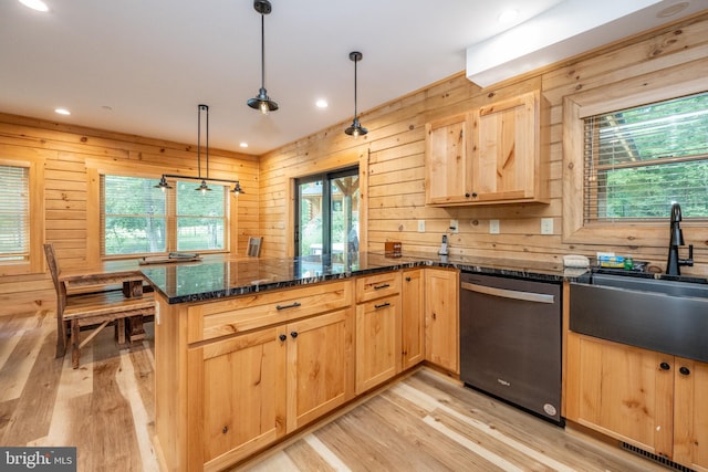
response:
[[[706,94],[676,66],[563,97],[563,243],[663,252],[674,201],[685,234],[708,239]]]

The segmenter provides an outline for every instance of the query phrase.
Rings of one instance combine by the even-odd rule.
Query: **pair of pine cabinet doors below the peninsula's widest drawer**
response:
[[[346,308],[191,348],[202,401],[188,436],[204,448],[189,470],[221,470],[353,398],[352,322]]]

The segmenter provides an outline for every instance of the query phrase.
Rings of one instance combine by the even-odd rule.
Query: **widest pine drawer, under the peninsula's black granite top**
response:
[[[187,342],[243,333],[353,304],[353,282],[253,293],[188,308]]]

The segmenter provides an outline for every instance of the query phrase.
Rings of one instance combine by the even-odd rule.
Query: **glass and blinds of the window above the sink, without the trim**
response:
[[[585,223],[708,218],[708,93],[584,118]]]

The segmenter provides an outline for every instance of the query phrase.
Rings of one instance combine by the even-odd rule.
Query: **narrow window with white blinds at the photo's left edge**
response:
[[[0,166],[0,262],[30,256],[30,169]]]

